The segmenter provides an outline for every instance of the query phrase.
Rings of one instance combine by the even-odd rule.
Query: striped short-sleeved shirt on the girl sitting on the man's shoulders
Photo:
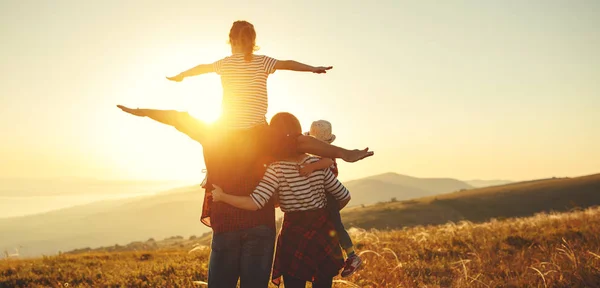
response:
[[[277,60],[264,55],[235,53],[213,63],[223,85],[222,119],[226,127],[246,129],[265,124],[267,77],[275,72]]]

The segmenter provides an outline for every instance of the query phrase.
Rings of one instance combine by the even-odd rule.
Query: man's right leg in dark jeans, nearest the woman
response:
[[[258,226],[243,231],[240,288],[269,286],[274,251],[275,231],[272,228]]]

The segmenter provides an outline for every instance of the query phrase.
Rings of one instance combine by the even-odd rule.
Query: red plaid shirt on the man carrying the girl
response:
[[[212,191],[212,185],[216,184],[228,194],[237,196],[252,194],[266,166],[286,153],[296,151],[297,139],[295,135],[278,137],[266,125],[205,138],[202,145],[208,170],[206,191]],[[210,193],[206,193],[200,220],[212,227],[214,233],[261,225],[275,229],[274,202],[269,201],[258,211],[248,211],[226,203],[213,203]]]

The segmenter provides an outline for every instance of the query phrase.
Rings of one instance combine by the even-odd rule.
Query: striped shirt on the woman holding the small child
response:
[[[262,180],[250,195],[262,208],[275,193],[283,212],[307,211],[327,206],[325,193],[340,202],[350,198],[350,192],[337,180],[330,169],[318,170],[308,177],[300,176],[298,165],[314,163],[319,158],[307,156],[300,163],[279,161],[267,168]]]

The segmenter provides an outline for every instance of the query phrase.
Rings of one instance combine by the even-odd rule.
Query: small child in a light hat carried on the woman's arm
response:
[[[306,132],[305,135],[315,137],[323,142],[331,144],[335,140],[335,135],[331,133],[331,123],[325,120],[319,120],[312,123],[310,126],[310,132]],[[338,169],[335,159],[321,159],[317,162],[306,164],[300,169],[301,175],[310,175],[313,171],[323,170],[329,168],[331,172],[337,177]],[[342,270],[342,277],[348,277],[352,275],[362,264],[362,260],[354,252],[354,244],[350,235],[344,228],[342,218],[340,216],[340,203],[327,193],[327,209],[331,215],[331,221],[335,226],[338,238],[340,240],[340,246],[346,251],[348,258]]]

